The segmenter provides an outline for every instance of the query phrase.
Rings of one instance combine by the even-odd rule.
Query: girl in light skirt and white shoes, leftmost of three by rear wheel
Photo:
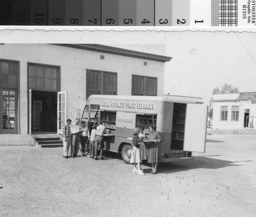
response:
[[[133,133],[133,139],[132,139],[133,150],[132,150],[130,163],[133,163],[134,165],[133,172],[137,172],[140,175],[145,175],[140,169],[140,164],[141,164],[140,143],[142,142],[142,140],[138,136],[139,133],[140,133],[140,129],[135,128],[135,131]],[[136,164],[138,164],[137,166],[138,169],[136,168]]]

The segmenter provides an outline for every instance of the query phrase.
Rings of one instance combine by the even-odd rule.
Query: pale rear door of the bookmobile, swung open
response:
[[[205,152],[208,106],[187,104],[183,150]]]

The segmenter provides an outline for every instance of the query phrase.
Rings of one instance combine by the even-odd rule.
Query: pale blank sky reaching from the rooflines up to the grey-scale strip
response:
[[[240,92],[256,91],[255,31],[220,30],[5,30],[0,31],[0,42],[101,44],[169,56],[172,59],[165,62],[164,94],[202,97],[209,103],[212,90],[224,83]]]

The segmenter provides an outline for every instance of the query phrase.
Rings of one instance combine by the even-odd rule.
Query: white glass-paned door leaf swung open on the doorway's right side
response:
[[[57,93],[57,133],[62,134],[62,126],[67,121],[67,91]]]

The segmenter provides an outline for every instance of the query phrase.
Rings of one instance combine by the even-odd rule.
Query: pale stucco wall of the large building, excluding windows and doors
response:
[[[104,55],[104,60],[100,55]],[[19,61],[18,133],[24,135],[28,133],[28,62],[60,67],[60,91],[67,91],[67,114],[72,120],[82,114],[86,103],[87,69],[116,72],[118,95],[131,95],[132,74],[157,77],[157,94],[163,95],[163,62],[48,44],[0,45],[0,58]]]

